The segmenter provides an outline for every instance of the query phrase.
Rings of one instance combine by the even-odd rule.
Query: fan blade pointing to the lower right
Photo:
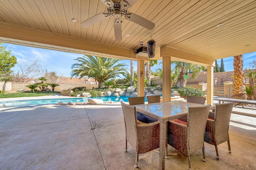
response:
[[[142,27],[145,27],[146,29],[153,29],[155,27],[155,24],[141,16],[138,16],[136,14],[133,14],[131,12],[127,12],[126,16],[124,17],[126,20],[132,21],[134,23],[137,23],[141,25]]]

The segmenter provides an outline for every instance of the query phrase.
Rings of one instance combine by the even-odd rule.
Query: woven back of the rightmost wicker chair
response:
[[[233,105],[234,102],[216,104],[214,121],[216,123],[215,133],[217,141],[222,141],[222,139],[228,139],[228,127]]]

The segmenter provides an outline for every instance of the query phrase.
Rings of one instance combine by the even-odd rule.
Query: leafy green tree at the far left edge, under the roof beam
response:
[[[12,73],[11,68],[17,63],[14,55],[11,55],[11,50],[6,50],[6,47],[0,43],[0,76],[7,76]]]

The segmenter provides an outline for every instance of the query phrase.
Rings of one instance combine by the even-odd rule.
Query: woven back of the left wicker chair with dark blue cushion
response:
[[[136,107],[124,104],[121,102],[122,111],[124,114],[124,123],[126,130],[126,140],[130,145],[137,150],[137,116]]]

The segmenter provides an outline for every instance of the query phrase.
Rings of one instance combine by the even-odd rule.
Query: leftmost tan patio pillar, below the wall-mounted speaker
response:
[[[144,75],[145,75],[145,64],[144,60],[138,60],[138,97],[144,96]]]

